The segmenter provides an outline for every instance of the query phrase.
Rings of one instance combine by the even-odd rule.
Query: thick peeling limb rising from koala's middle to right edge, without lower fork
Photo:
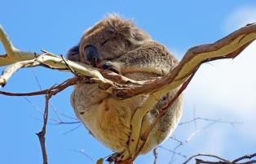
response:
[[[128,90],[117,90],[115,94],[122,97],[132,97],[141,93],[151,93],[161,88],[173,89],[188,79],[196,67],[222,58],[236,58],[242,50],[256,39],[256,24],[232,32],[227,37],[208,45],[198,45],[188,50],[177,67],[157,80],[144,82]]]

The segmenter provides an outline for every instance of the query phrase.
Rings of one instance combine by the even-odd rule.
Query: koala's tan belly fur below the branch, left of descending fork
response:
[[[71,101],[77,117],[104,145],[116,152],[126,148],[130,119],[145,97],[118,100],[108,97],[98,84],[79,84]]]

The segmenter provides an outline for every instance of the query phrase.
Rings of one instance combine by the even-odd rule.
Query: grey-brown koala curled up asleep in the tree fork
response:
[[[68,51],[68,59],[115,71],[132,80],[166,76],[179,63],[164,45],[153,41],[147,32],[119,15],[108,15],[87,29],[79,44]],[[176,92],[177,89],[170,90],[151,106],[143,117],[142,132]],[[109,149],[121,153],[129,143],[132,116],[148,97],[150,93],[117,99],[97,83],[81,83],[75,86],[71,103],[77,118],[90,133]],[[182,100],[179,96],[152,129],[141,154],[148,153],[171,135],[182,114]]]

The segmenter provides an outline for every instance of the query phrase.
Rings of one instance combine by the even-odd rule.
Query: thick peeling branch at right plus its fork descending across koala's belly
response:
[[[149,110],[151,110],[149,106],[156,104],[161,98],[161,95],[164,95],[171,89],[179,87],[180,84],[183,84],[184,81],[188,80],[189,77],[192,76],[193,72],[195,72],[202,63],[222,58],[236,58],[236,56],[240,54],[242,50],[245,50],[245,48],[255,39],[256,24],[249,24],[248,26],[245,26],[236,32],[232,32],[232,34],[219,41],[216,41],[213,44],[198,45],[188,50],[179,65],[174,67],[174,69],[170,71],[167,76],[159,80],[155,80],[154,83],[146,82],[142,86],[131,88],[128,92],[122,93],[122,96],[126,95],[129,97],[129,94],[134,95],[135,93],[139,92],[148,93],[155,90],[155,92],[152,93],[154,94],[154,97],[149,97],[143,106],[135,111],[135,114],[131,120],[132,131],[129,140],[129,152],[131,153],[131,156],[134,156],[133,159],[139,155],[139,152],[143,149],[143,145],[146,143],[152,127],[159,120],[159,118],[157,118],[158,120],[152,124],[152,127],[148,129],[148,132],[145,132],[145,134],[139,134],[143,116],[147,114]],[[164,114],[164,112],[159,114],[159,117],[161,117],[162,114]],[[143,140],[141,146],[138,145],[139,136]],[[125,156],[128,154],[127,151],[128,150],[124,152]]]

